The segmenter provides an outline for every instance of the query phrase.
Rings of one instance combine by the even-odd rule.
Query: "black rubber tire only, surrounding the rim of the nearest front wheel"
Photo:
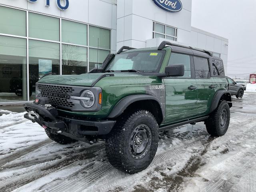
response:
[[[147,120],[150,121],[149,124],[154,125],[149,126],[152,134],[152,143],[148,153],[142,158],[142,160],[146,162],[144,162],[143,165],[140,164],[140,167],[135,167],[134,162],[136,160],[132,157],[132,155],[130,155],[129,146],[125,146],[125,140],[130,140],[130,134],[135,128],[134,123],[142,118],[147,118]],[[140,172],[147,168],[152,162],[158,147],[158,140],[158,124],[152,113],[146,110],[126,113],[119,118],[106,139],[105,149],[108,161],[110,164],[112,164],[112,166],[118,170],[121,170],[122,172],[126,172],[128,174]]]

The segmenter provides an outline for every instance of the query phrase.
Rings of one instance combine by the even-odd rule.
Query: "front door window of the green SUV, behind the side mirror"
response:
[[[189,55],[184,55],[180,53],[171,53],[168,66],[176,65],[176,64],[184,64],[185,72],[182,78],[191,78],[191,65],[190,65]]]

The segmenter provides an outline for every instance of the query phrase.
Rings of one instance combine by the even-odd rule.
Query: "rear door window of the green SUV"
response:
[[[196,78],[210,78],[210,68],[208,59],[194,56]]]

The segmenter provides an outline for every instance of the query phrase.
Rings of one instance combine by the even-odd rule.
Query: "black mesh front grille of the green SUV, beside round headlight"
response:
[[[73,93],[72,87],[57,86],[51,84],[38,84],[38,89],[42,97],[47,97],[52,106],[62,106],[72,108],[74,106],[71,102],[70,94]]]

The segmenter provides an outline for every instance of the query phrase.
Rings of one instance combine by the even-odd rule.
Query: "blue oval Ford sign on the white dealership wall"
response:
[[[182,3],[180,0],[153,0],[154,3],[161,9],[168,12],[178,12],[182,10]]]

